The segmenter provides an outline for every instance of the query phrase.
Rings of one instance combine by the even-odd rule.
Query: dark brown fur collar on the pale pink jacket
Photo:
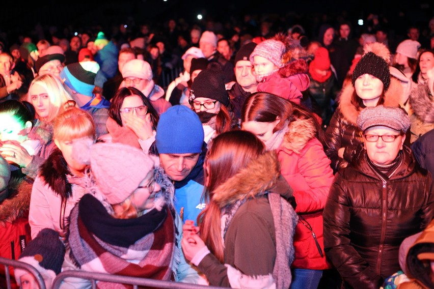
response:
[[[39,169],[40,176],[53,192],[65,199],[68,199],[72,195],[72,187],[67,180],[67,175],[71,173],[59,149],[53,150]]]

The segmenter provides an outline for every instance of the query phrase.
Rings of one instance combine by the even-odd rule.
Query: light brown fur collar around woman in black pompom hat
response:
[[[357,126],[357,117],[360,111],[356,109],[354,105],[351,104],[352,93],[354,92],[354,86],[348,84],[342,89],[341,95],[339,96],[339,109],[342,112],[344,118]],[[404,90],[399,80],[391,78],[390,86],[385,94],[385,106],[400,106],[399,100],[402,99],[402,94]]]

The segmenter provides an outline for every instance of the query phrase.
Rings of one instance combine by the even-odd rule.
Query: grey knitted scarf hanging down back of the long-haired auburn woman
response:
[[[291,264],[294,261],[294,233],[299,217],[291,205],[279,194],[267,193],[270,209],[276,232],[276,261],[273,268],[273,278],[276,280],[276,288],[289,288],[291,284]],[[238,208],[246,203],[247,199],[240,199],[222,209],[221,232],[222,242],[233,216]],[[289,278],[288,278],[289,276]]]

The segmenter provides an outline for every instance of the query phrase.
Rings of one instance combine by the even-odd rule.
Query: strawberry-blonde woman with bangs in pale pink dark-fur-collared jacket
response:
[[[72,143],[81,138],[96,140],[92,116],[77,107],[65,104],[66,110],[53,121],[56,149],[41,165],[32,188],[29,223],[32,238],[43,228],[63,234],[65,221],[75,203],[84,194],[83,177],[86,165],[72,153]]]

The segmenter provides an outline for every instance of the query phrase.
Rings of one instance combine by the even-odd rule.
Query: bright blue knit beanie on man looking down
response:
[[[175,105],[160,115],[155,135],[159,154],[198,154],[204,139],[198,115],[185,105]]]

